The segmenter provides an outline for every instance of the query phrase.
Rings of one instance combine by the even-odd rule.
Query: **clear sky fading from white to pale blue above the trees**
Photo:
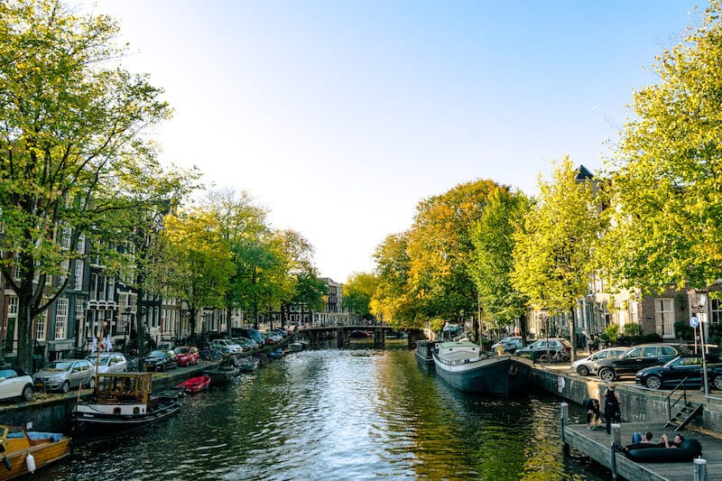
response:
[[[174,109],[162,162],[245,190],[315,247],[371,272],[421,199],[479,179],[537,192],[566,155],[598,171],[655,55],[701,0],[99,0]]]

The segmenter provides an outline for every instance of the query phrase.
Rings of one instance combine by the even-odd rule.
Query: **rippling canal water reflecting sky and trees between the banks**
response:
[[[404,348],[304,351],[190,395],[152,428],[79,445],[33,477],[604,479],[564,457],[559,412],[547,393],[459,393]]]

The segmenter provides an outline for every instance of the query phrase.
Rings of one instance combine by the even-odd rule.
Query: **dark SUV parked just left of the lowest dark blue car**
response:
[[[634,375],[651,365],[663,365],[676,356],[689,354],[679,344],[643,344],[630,347],[623,355],[604,359],[597,364],[597,374],[603,381],[614,381],[622,375]]]

